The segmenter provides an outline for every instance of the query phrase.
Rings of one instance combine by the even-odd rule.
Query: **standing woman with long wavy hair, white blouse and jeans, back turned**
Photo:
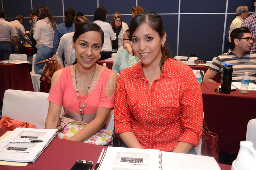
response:
[[[52,18],[49,8],[42,6],[37,9],[37,22],[33,38],[36,40],[35,63],[46,60],[53,56],[53,38],[56,23]],[[35,65],[35,73],[43,73],[43,64]]]

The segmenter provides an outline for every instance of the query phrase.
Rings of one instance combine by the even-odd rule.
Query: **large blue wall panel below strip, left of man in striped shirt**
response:
[[[179,55],[195,53],[204,61],[220,55],[224,19],[224,14],[181,15]]]

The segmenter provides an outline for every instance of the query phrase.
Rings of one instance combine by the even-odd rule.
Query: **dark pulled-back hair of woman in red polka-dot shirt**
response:
[[[132,19],[129,27],[130,36],[132,37],[134,32],[136,32],[137,29],[140,28],[140,26],[144,23],[146,23],[154,31],[158,32],[160,38],[163,38],[165,31],[164,31],[164,24],[163,24],[162,18],[160,15],[151,11],[146,11],[142,14],[136,15]],[[165,44],[161,45],[161,52],[162,52],[162,57],[160,61],[160,68],[162,70],[164,61],[166,59],[169,60],[169,58],[172,58],[172,57],[171,57],[171,53],[169,52],[169,48]]]

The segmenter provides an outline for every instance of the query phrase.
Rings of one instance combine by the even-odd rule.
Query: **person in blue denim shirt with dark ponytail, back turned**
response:
[[[68,8],[65,11],[65,22],[62,22],[56,26],[55,33],[54,33],[54,39],[53,39],[53,53],[55,54],[59,43],[60,38],[62,35],[68,33],[68,32],[74,32],[75,26],[74,26],[74,18],[75,18],[75,11],[74,9]]]

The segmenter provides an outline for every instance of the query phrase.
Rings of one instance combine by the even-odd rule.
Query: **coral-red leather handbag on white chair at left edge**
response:
[[[28,122],[11,119],[7,115],[3,115],[0,120],[0,128],[14,130],[15,128],[35,128],[37,127]]]

